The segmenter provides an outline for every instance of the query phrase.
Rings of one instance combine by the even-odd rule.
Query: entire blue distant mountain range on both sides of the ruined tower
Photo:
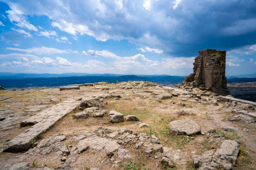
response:
[[[5,88],[29,87],[57,87],[70,84],[83,84],[94,82],[121,82],[121,81],[150,81],[165,83],[165,85],[178,84],[185,76],[171,75],[119,75],[119,74],[34,74],[34,73],[8,73],[0,72],[0,86]],[[256,82],[256,78],[229,77],[227,82]]]

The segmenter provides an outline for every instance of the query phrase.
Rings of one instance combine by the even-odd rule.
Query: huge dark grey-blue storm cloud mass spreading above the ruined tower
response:
[[[256,44],[255,0],[182,0],[175,9],[169,0],[148,1],[7,3],[25,15],[46,15],[55,28],[73,35],[128,39],[177,57],[196,56],[205,48],[233,50]]]

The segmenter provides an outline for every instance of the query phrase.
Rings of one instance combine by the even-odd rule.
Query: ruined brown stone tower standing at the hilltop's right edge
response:
[[[226,51],[206,49],[199,51],[193,63],[193,73],[185,77],[182,85],[208,88],[218,95],[229,95],[225,77]]]

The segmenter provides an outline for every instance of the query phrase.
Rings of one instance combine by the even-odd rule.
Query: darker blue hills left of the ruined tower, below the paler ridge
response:
[[[57,87],[70,84],[83,84],[94,82],[122,82],[122,81],[150,81],[168,84],[178,84],[184,80],[184,76],[150,76],[143,77],[137,75],[122,76],[72,76],[72,77],[49,77],[49,78],[19,78],[19,79],[0,79],[0,86],[5,88],[29,88],[29,87]]]

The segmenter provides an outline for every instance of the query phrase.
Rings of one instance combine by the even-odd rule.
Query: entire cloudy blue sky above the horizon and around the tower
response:
[[[188,75],[209,48],[256,72],[255,0],[0,0],[0,72]]]

